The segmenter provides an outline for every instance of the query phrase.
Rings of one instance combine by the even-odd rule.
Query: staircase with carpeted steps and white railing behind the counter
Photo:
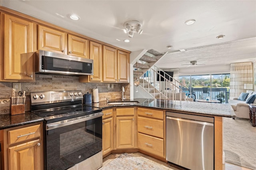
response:
[[[133,80],[140,81],[139,87],[134,86],[134,88],[140,88],[140,92],[145,91],[154,99],[170,99],[171,97],[175,99],[176,95],[172,91],[182,91],[180,88],[182,85],[179,81],[175,79],[170,81],[173,77],[170,77],[166,73],[160,75],[158,71],[162,70],[154,65],[166,53],[159,53],[154,49],[149,49],[133,65]],[[164,81],[157,81],[157,77],[164,79]],[[181,99],[181,93],[179,98]]]

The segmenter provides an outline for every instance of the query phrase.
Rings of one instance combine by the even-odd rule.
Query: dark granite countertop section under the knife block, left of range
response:
[[[0,115],[0,130],[42,121],[44,121],[44,118],[31,112],[25,112],[20,115],[4,114]]]

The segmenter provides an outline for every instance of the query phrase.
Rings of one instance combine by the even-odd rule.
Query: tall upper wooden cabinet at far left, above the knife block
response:
[[[34,81],[35,24],[1,14],[1,27],[4,27],[1,81]]]

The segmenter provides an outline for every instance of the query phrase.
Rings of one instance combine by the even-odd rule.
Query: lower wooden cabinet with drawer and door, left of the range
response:
[[[0,130],[3,161],[1,170],[42,170],[42,123]]]

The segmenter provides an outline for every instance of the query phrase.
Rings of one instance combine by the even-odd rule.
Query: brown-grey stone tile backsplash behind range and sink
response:
[[[108,83],[80,83],[78,76],[36,74],[35,82],[21,82],[21,91],[26,91],[25,111],[30,111],[30,92],[81,90],[83,94],[92,93],[98,88],[99,101],[121,99],[121,87],[125,88],[126,99],[130,99],[129,83],[113,83],[114,88],[108,89]],[[12,82],[0,82],[0,115],[10,113],[10,97]],[[18,91],[15,92],[18,96]]]

